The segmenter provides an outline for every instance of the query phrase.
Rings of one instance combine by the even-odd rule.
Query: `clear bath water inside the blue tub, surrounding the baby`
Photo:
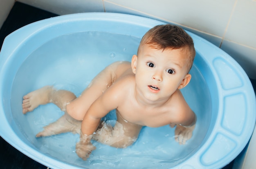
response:
[[[198,117],[193,137],[185,145],[179,145],[175,141],[175,129],[168,125],[158,128],[143,127],[138,140],[126,149],[92,141],[97,149],[88,160],[83,161],[75,153],[78,134],[35,137],[45,125],[63,115],[58,107],[47,104],[26,115],[22,114],[22,96],[25,94],[45,85],[54,85],[57,89],[70,90],[79,96],[92,78],[108,64],[119,60],[130,61],[132,55],[137,54],[139,42],[140,37],[89,31],[54,38],[33,51],[16,73],[11,93],[11,103],[20,102],[20,105],[11,105],[11,109],[13,119],[23,133],[21,138],[31,142],[47,156],[90,169],[170,168],[189,158],[206,140],[211,120],[209,89],[196,62],[190,72],[190,84],[182,89],[184,98]],[[115,118],[115,111],[106,116],[110,123],[115,123]]]

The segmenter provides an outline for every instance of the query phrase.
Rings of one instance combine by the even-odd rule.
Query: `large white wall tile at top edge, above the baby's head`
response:
[[[222,37],[236,0],[104,0]],[[106,8],[106,11],[108,9]]]

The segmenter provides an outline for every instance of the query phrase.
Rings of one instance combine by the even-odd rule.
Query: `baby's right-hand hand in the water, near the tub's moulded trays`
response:
[[[195,125],[191,127],[183,127],[181,125],[177,125],[175,129],[175,140],[179,142],[180,145],[184,145],[186,141],[192,137],[194,129]]]

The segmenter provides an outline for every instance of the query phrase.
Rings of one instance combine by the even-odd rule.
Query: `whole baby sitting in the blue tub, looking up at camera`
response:
[[[91,139],[112,147],[132,145],[142,126],[175,127],[175,140],[185,144],[196,116],[180,89],[188,85],[195,57],[192,38],[180,27],[166,24],[150,29],[131,62],[114,62],[99,73],[76,98],[74,93],[46,86],[23,97],[23,113],[54,103],[65,114],[36,135],[80,133],[76,153],[86,160],[96,149]],[[114,127],[101,118],[116,109]]]

